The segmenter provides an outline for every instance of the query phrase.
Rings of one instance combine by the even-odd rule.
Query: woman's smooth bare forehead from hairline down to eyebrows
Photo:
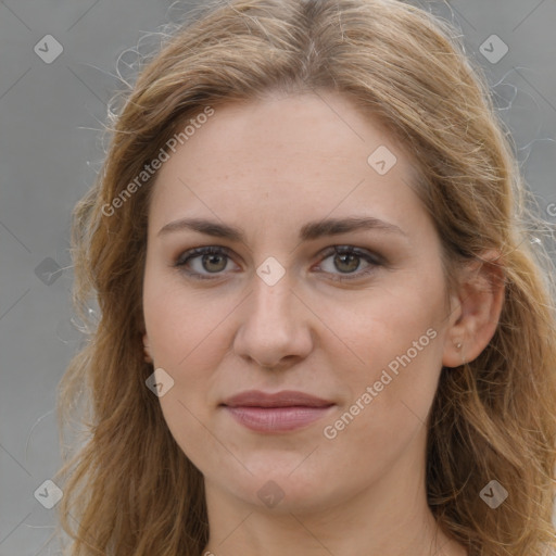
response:
[[[362,207],[395,220],[419,210],[410,157],[339,93],[230,102],[203,122],[157,175],[156,225],[186,208],[263,223]]]

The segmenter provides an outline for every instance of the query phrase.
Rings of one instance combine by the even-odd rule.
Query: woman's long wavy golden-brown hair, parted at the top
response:
[[[141,298],[155,174],[132,191],[129,184],[188,118],[271,89],[339,91],[414,154],[448,281],[462,261],[501,252],[506,294],[495,336],[472,363],[441,374],[428,502],[470,554],[546,554],[556,547],[549,260],[531,233],[527,189],[486,79],[451,24],[395,0],[218,2],[146,63],[74,214],[74,303],[87,321],[98,301],[100,319],[60,383],[55,481],[67,554],[199,556],[207,542],[202,475],[146,387],[153,368],[143,359]],[[86,432],[66,454],[63,430],[74,421]],[[496,509],[480,496],[492,480],[508,492]]]

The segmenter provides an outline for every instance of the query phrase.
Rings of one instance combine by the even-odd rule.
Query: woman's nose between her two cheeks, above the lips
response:
[[[242,304],[235,353],[258,367],[289,367],[313,349],[312,317],[288,270],[273,286],[255,274],[253,291]]]

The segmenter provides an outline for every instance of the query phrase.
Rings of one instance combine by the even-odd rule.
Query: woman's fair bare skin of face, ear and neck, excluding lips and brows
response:
[[[384,175],[367,163],[380,146],[397,157]],[[443,365],[479,355],[503,293],[485,288],[488,271],[475,266],[446,295],[440,239],[412,187],[413,166],[350,99],[323,91],[218,106],[161,168],[149,213],[144,346],[174,380],[160,397],[167,426],[204,476],[203,554],[467,554],[427,506],[426,422],[440,374],[455,371]],[[354,215],[401,231],[298,237],[309,220]],[[241,228],[244,242],[160,233],[185,217]],[[189,270],[216,278],[173,266],[203,245],[229,249],[204,266],[202,256],[189,261]],[[334,262],[323,254],[333,245],[377,253],[382,264]],[[269,256],[286,270],[274,286],[256,274]],[[350,273],[356,278],[334,281]],[[324,428],[430,329],[435,338],[326,438]],[[300,390],[336,405],[303,429],[254,432],[219,406],[251,389]],[[283,494],[274,507],[257,495],[269,480]]]

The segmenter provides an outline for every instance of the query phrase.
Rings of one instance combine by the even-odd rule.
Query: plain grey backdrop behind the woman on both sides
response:
[[[48,542],[55,509],[34,493],[60,466],[55,390],[80,341],[71,321],[71,211],[100,168],[106,102],[121,87],[116,61],[173,20],[170,4],[0,1],[0,556],[58,554],[56,541]],[[556,207],[556,2],[420,5],[460,28],[497,93],[544,218],[556,223],[548,210]],[[493,34],[509,49],[495,62],[501,45],[485,42]],[[47,50],[47,35],[63,47],[51,63],[34,51]]]

